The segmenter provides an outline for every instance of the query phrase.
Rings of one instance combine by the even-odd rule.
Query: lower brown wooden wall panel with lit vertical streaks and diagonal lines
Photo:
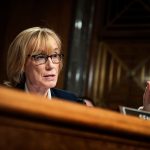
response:
[[[93,86],[88,92],[97,106],[118,111],[119,105],[142,105],[146,81],[150,79],[149,49],[146,41],[99,43],[93,63]]]

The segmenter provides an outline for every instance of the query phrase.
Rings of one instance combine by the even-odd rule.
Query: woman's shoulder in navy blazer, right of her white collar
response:
[[[82,99],[78,98],[74,93],[72,93],[70,91],[52,88],[51,94],[52,94],[52,97],[57,97],[57,98],[84,104],[84,101]]]

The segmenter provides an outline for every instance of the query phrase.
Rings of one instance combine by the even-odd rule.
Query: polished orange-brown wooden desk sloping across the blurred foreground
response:
[[[0,88],[0,150],[149,150],[150,121]]]

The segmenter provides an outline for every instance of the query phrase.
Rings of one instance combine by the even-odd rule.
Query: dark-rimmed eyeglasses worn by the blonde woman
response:
[[[62,61],[64,55],[63,54],[52,54],[52,55],[46,55],[46,54],[38,54],[38,55],[28,55],[31,56],[34,61],[36,62],[37,65],[42,65],[45,64],[48,60],[48,58],[50,57],[52,62],[54,64],[58,64]]]

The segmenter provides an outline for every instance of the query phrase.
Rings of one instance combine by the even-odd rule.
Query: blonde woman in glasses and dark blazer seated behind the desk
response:
[[[62,61],[61,40],[54,31],[40,27],[26,29],[9,47],[5,84],[49,99],[58,97],[84,103],[74,94],[54,88]]]

